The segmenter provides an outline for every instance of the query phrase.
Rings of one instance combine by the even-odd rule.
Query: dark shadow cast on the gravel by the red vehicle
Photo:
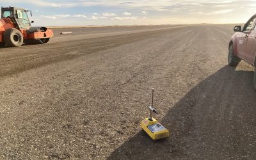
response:
[[[256,99],[253,72],[223,67],[187,93],[161,120],[171,136],[141,131],[108,159],[253,159]]]

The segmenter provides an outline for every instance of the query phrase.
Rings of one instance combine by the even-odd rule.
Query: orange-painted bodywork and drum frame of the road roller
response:
[[[9,18],[0,19],[0,43],[3,42],[4,31],[9,28],[16,28],[12,20]],[[46,31],[34,31],[29,33],[26,29],[19,29],[23,35],[24,40],[28,39],[40,39],[40,38],[51,38],[53,36],[53,31],[47,29]]]

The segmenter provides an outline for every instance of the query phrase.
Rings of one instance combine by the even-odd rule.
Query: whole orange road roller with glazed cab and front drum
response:
[[[32,12],[23,8],[1,8],[0,19],[0,45],[19,47],[26,44],[45,44],[53,36],[53,31],[45,27],[31,27],[28,13]]]

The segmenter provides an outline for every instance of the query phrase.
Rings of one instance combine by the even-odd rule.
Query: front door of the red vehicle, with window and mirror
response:
[[[237,35],[237,55],[244,60],[250,62],[250,55],[248,54],[247,43],[249,39],[249,35],[251,35],[253,31],[253,24],[255,22],[255,17],[248,20],[243,28],[243,32]]]

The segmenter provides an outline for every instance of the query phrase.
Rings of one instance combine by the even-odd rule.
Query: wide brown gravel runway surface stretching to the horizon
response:
[[[227,66],[232,27],[54,29],[0,48],[0,159],[255,159],[253,67]],[[166,140],[140,129],[150,88]]]

